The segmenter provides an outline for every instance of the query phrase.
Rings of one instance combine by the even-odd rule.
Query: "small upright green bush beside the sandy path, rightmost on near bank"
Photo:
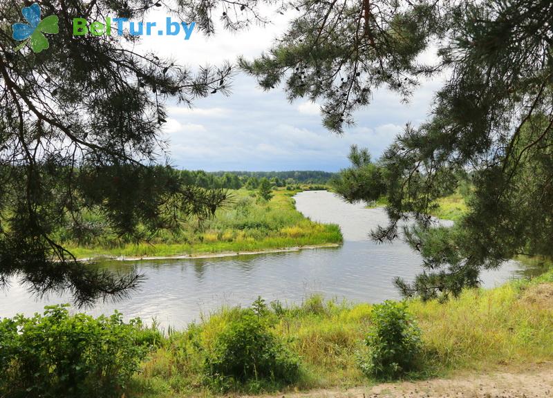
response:
[[[406,303],[384,301],[374,305],[362,371],[379,379],[394,379],[414,370],[421,350],[420,329]]]

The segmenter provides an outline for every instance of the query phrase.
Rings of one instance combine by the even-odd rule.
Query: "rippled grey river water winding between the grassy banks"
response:
[[[386,223],[384,209],[350,205],[326,191],[301,192],[294,198],[297,209],[312,220],[339,224],[344,245],[255,256],[112,263],[109,266],[119,271],[136,265],[147,280],[131,299],[87,312],[98,315],[118,309],[127,319],[156,318],[162,325],[182,328],[202,313],[221,305],[248,305],[257,296],[288,303],[314,293],[351,301],[398,299],[393,278],[410,280],[420,272],[420,256],[408,245],[400,241],[377,245],[368,238],[368,231]],[[483,274],[482,281],[493,287],[516,269],[518,263],[510,261]],[[68,301],[67,296],[37,300],[24,286],[12,283],[0,293],[0,316],[30,315],[41,312],[44,305]]]

